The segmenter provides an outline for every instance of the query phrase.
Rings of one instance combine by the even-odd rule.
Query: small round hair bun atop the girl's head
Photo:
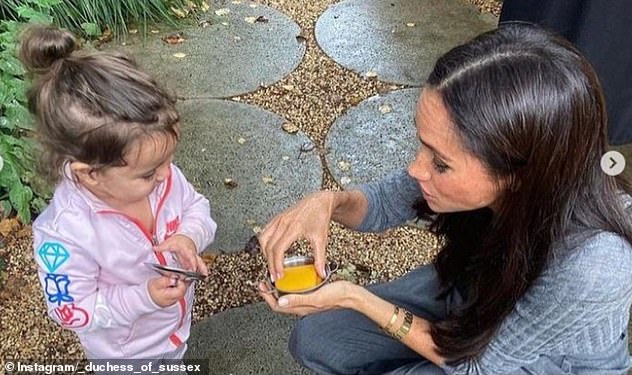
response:
[[[75,36],[51,25],[32,25],[22,33],[20,61],[34,73],[50,68],[55,61],[64,59],[76,49]]]

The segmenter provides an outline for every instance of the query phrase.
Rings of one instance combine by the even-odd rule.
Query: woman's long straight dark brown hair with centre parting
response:
[[[572,233],[610,231],[632,243],[621,199],[629,188],[600,169],[607,120],[595,72],[554,34],[503,25],[441,57],[427,87],[464,147],[507,182],[493,213],[439,214],[431,227],[446,238],[435,261],[442,295],[457,287],[465,298],[432,337],[459,363],[481,354]],[[418,209],[431,212],[423,202]]]

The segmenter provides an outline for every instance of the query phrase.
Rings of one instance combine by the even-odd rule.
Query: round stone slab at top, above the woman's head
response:
[[[419,86],[443,53],[497,23],[462,0],[346,0],[320,16],[315,34],[340,65]]]

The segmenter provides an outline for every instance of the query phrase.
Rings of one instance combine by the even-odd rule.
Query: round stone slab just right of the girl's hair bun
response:
[[[281,80],[298,66],[305,43],[297,40],[301,29],[294,21],[261,4],[221,4],[211,7],[220,15],[209,11],[208,27],[182,30],[181,43],[166,43],[163,38],[175,42],[178,36],[161,31],[148,33],[146,40],[140,33],[130,35],[125,46],[108,49],[131,54],[181,97],[244,94]]]

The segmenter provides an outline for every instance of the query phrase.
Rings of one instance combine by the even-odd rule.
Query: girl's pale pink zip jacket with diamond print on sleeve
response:
[[[184,353],[193,284],[185,298],[161,308],[147,290],[148,280],[159,275],[143,263],[173,265],[170,254],[154,252],[152,243],[176,233],[204,250],[217,225],[208,200],[175,165],[149,199],[154,233],[64,178],[33,223],[48,315],[77,333],[88,358],[158,359]]]

